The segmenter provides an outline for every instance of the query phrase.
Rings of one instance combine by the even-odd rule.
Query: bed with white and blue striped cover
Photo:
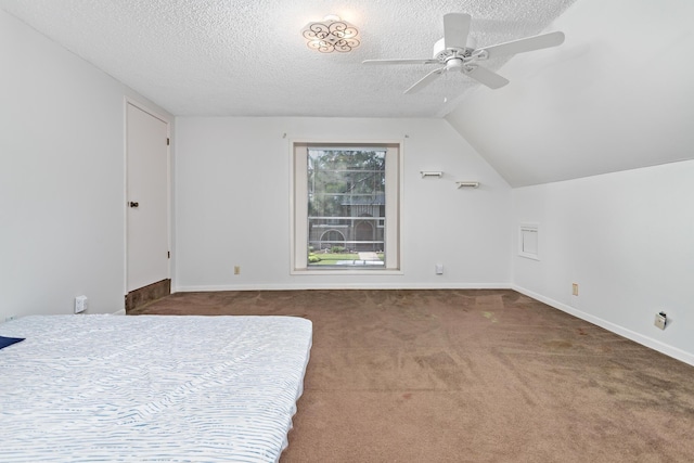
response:
[[[0,324],[2,462],[273,462],[303,393],[295,317],[36,316]]]

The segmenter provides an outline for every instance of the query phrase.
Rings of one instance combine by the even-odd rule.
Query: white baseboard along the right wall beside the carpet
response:
[[[661,343],[659,340],[653,339],[652,337],[648,336],[644,336],[640,333],[637,333],[634,331],[628,330],[624,326],[620,326],[618,324],[608,322],[606,320],[603,320],[599,317],[592,316],[590,313],[586,313],[581,310],[577,310],[574,307],[567,306],[566,304],[562,304],[558,303],[554,299],[551,299],[549,297],[544,297],[540,294],[534,293],[529,290],[526,290],[524,287],[517,286],[517,285],[511,285],[511,288],[514,291],[517,291],[520,294],[525,294],[528,297],[531,297],[534,299],[539,300],[540,303],[544,303],[548,306],[551,306],[555,309],[558,309],[563,312],[566,312],[570,316],[574,316],[578,319],[581,320],[586,320],[587,322],[590,322],[594,325],[597,325],[600,327],[604,327],[607,331],[611,331],[615,334],[618,334],[619,336],[626,337],[627,339],[631,339],[634,343],[639,343],[643,346],[646,346],[653,350],[657,350],[660,353],[665,353],[668,357],[672,357],[673,359],[680,360],[684,363],[687,363],[690,365],[694,366],[694,355],[679,349],[677,347],[672,347],[670,345],[667,345],[665,343]]]

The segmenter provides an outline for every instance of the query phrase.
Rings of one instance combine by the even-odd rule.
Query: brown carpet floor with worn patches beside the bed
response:
[[[513,291],[180,293],[313,322],[290,462],[694,462],[694,368]]]

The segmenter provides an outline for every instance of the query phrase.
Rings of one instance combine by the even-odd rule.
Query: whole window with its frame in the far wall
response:
[[[294,271],[399,269],[399,151],[294,144]]]

